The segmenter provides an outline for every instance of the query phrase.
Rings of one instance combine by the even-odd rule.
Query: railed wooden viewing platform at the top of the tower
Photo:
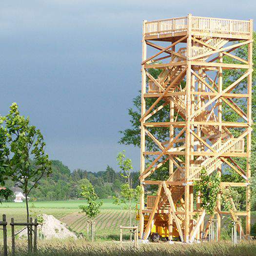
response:
[[[186,17],[165,20],[145,20],[146,40],[166,40],[183,37],[190,31],[197,37],[219,37],[234,40],[250,38],[250,20],[231,20],[209,17]]]

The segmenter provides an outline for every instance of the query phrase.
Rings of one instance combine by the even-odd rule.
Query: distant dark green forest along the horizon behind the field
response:
[[[66,200],[80,198],[81,184],[89,182],[95,188],[99,198],[109,198],[117,195],[120,185],[125,181],[120,173],[107,166],[105,171],[98,173],[77,169],[73,172],[59,160],[52,160],[53,172],[49,177],[43,177],[38,186],[31,191],[30,201]],[[7,186],[14,186],[13,181],[7,181]],[[138,173],[132,173],[132,186],[138,185]],[[13,200],[10,197],[9,200]]]

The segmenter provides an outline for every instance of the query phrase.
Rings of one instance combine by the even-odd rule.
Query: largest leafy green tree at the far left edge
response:
[[[52,167],[40,130],[30,124],[28,117],[20,115],[17,103],[10,106],[7,116],[0,117],[0,143],[1,180],[9,177],[19,182],[29,222],[28,196],[39,180],[52,172]]]

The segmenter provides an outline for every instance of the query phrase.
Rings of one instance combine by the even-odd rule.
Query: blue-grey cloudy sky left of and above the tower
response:
[[[140,89],[141,24],[186,16],[255,19],[255,0],[1,0],[0,114],[16,101],[71,170],[117,169]]]

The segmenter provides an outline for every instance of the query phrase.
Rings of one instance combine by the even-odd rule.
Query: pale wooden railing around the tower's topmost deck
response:
[[[145,34],[162,35],[172,32],[184,32],[187,31],[187,23],[187,17],[148,21],[145,23]],[[230,20],[192,16],[191,26],[192,31],[234,35],[250,34],[249,20]]]

